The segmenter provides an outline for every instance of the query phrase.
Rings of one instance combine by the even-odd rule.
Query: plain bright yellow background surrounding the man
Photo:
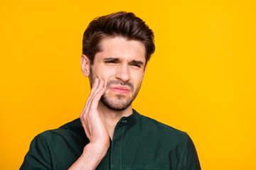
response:
[[[116,11],[156,37],[134,108],[188,132],[202,169],[256,169],[253,0],[1,1],[0,169],[18,169],[33,137],[79,117],[90,93],[82,33]]]

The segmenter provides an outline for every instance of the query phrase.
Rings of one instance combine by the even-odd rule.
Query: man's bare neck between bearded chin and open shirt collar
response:
[[[122,117],[127,117],[132,115],[132,104],[126,108],[124,111],[114,111],[110,108],[107,108],[101,101],[98,105],[98,111],[100,113],[100,117],[102,118],[102,122],[104,123],[107,131],[110,134],[110,138],[113,139],[114,136],[114,128],[116,127],[118,121]]]

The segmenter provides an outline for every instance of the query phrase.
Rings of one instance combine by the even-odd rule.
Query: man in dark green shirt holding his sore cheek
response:
[[[82,40],[91,91],[80,119],[35,137],[21,169],[201,169],[185,132],[132,109],[154,49],[133,13],[93,20]]]

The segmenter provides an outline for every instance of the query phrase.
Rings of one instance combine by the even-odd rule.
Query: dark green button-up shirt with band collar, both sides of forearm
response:
[[[37,135],[21,170],[68,169],[89,141],[80,119]],[[186,132],[140,115],[123,117],[97,169],[201,169],[196,148]]]

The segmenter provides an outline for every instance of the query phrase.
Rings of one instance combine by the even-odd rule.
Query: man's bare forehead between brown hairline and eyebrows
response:
[[[107,37],[100,42],[99,57],[118,57],[145,62],[146,49],[139,40],[122,37]]]

